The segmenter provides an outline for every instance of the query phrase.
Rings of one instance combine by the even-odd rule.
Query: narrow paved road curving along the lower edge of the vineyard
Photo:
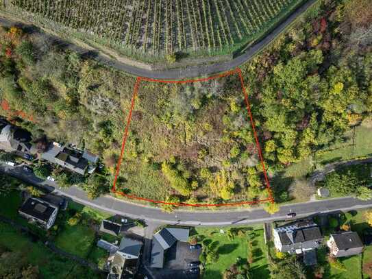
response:
[[[186,69],[169,69],[169,70],[162,70],[162,71],[150,71],[146,69],[140,69],[136,66],[131,66],[129,64],[124,64],[123,62],[119,62],[114,59],[110,59],[106,56],[101,55],[99,52],[94,52],[94,58],[99,60],[99,62],[103,62],[104,64],[108,64],[109,66],[114,67],[120,71],[125,71],[127,73],[131,73],[132,75],[140,76],[140,77],[150,77],[156,79],[164,79],[164,80],[182,80],[184,78],[190,77],[201,77],[206,75],[212,75],[214,73],[221,73],[224,71],[229,71],[230,69],[235,69],[237,66],[247,62],[255,56],[258,52],[260,52],[264,47],[269,45],[281,32],[293,23],[298,16],[300,16],[303,12],[305,12],[312,4],[317,2],[317,0],[308,0],[301,7],[299,7],[295,12],[290,14],[286,20],[284,20],[280,25],[277,25],[275,29],[267,36],[262,38],[258,43],[249,47],[245,53],[241,56],[238,56],[230,61],[227,62],[217,62],[214,64],[207,64],[207,65],[199,65],[199,66],[188,66]],[[5,19],[0,17],[0,24],[5,26],[11,26],[16,23],[15,21],[10,21],[9,19]],[[59,45],[67,49],[71,49],[80,53],[82,55],[90,55],[93,53],[92,51],[88,51],[88,49],[84,49],[83,47],[79,47],[77,45],[73,45],[72,43],[66,42],[61,40],[56,36],[52,36],[50,34],[40,33],[42,36],[47,37],[51,41],[57,42]]]

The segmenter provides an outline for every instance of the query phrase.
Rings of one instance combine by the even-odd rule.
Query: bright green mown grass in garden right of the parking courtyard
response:
[[[223,271],[230,268],[236,263],[236,258],[240,257],[247,260],[247,237],[235,236],[232,241],[227,239],[226,233],[219,232],[221,228],[196,228],[197,234],[201,236],[202,243],[208,245],[213,243],[216,252],[219,254],[219,260],[206,266],[206,271],[203,274],[204,279],[222,278]],[[225,232],[228,227],[222,228]],[[251,273],[253,278],[269,278],[269,269],[266,258],[266,245],[264,244],[264,231],[262,226],[253,228],[253,263],[251,264]]]

